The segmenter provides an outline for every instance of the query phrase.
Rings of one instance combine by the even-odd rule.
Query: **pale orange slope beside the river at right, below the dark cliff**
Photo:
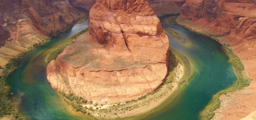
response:
[[[232,36],[216,37],[203,27],[191,24],[189,21],[179,18],[176,21],[192,31],[210,36],[223,45],[229,45],[244,65],[246,73],[244,77],[249,76],[251,81],[250,86],[220,97],[222,102],[220,107],[214,111],[215,116],[213,120],[250,120],[256,115],[256,112],[254,112],[256,111],[256,41],[246,41],[239,37],[233,38]],[[239,42],[239,40],[243,41]]]

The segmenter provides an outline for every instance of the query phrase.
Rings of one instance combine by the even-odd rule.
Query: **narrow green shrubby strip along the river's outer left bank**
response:
[[[85,15],[82,18],[75,21],[73,24],[70,24],[70,26],[64,28],[59,32],[59,34],[64,33],[68,30],[70,30],[75,24],[79,24],[83,21],[85,21],[89,16]],[[58,35],[59,35],[58,34]],[[55,35],[55,36],[58,36]],[[13,72],[15,69],[17,69],[18,63],[25,58],[29,53],[31,53],[36,48],[48,43],[51,41],[55,36],[48,37],[47,39],[42,40],[41,42],[33,44],[31,47],[28,48],[28,50],[20,52],[16,57],[11,58],[5,65],[4,68],[0,68],[2,71],[0,73],[0,119],[8,116],[8,118],[12,119],[26,119],[24,115],[22,115],[17,108],[18,104],[20,103],[20,99],[14,98],[12,96],[12,93],[9,93],[9,87],[6,85],[5,80],[7,76]],[[3,109],[5,108],[5,109]],[[5,111],[8,109],[8,111]]]

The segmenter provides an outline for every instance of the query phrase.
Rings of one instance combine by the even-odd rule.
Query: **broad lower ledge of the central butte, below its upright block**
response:
[[[136,99],[157,89],[167,73],[166,63],[149,63],[110,56],[91,35],[77,37],[47,67],[52,87],[105,104]]]

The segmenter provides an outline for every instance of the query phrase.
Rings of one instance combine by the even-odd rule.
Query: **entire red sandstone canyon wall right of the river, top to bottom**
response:
[[[245,90],[223,98],[214,120],[239,120],[255,111],[256,0],[187,0],[176,21],[229,44],[252,81]]]

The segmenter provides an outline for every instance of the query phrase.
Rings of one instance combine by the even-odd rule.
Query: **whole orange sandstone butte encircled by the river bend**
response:
[[[47,79],[54,89],[111,104],[161,85],[169,41],[145,0],[97,0],[89,32],[48,65]]]

